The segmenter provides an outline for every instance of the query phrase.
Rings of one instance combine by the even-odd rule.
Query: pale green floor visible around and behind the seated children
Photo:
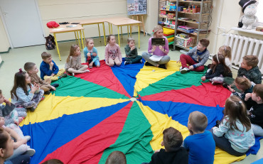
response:
[[[149,35],[146,35],[144,37],[143,34],[141,36],[141,48],[138,48],[138,35],[134,34],[133,37],[136,39],[136,47],[138,48],[138,53],[141,55],[142,52],[145,52],[148,50],[148,40],[150,38]],[[95,47],[97,48],[98,55],[100,57],[100,60],[104,59],[104,40],[103,38],[95,38]],[[64,67],[65,66],[65,60],[68,58],[68,55],[70,53],[70,45],[76,44],[74,41],[70,42],[63,42],[58,43],[59,49],[60,49],[60,55],[61,55],[61,61],[58,58],[57,50],[46,50],[45,45],[36,45],[31,47],[25,47],[25,48],[14,48],[9,51],[9,53],[3,53],[0,54],[2,60],[4,63],[0,67],[0,75],[1,75],[1,83],[0,83],[0,89],[3,91],[3,94],[5,97],[10,97],[10,90],[11,87],[14,85],[14,74],[18,72],[19,68],[23,69],[23,65],[26,62],[35,62],[36,65],[39,67],[39,65],[42,62],[41,59],[41,53],[44,51],[48,51],[52,55],[53,60],[58,65],[58,67]],[[124,53],[124,46],[127,44],[127,35],[123,35],[123,39],[121,40],[121,50],[122,50],[122,57],[125,56]],[[170,48],[173,48],[172,45],[170,45]],[[171,60],[178,60],[179,55],[181,53],[178,50],[171,51],[168,53],[168,55],[171,57]],[[84,55],[82,55],[82,62],[84,62]],[[208,60],[206,65],[210,64],[211,60]],[[38,72],[40,75],[40,72]],[[237,76],[237,70],[232,69],[233,77]],[[263,140],[261,140],[261,145],[263,144]],[[245,160],[242,160],[240,162],[237,162],[239,164],[242,163],[252,163],[256,160],[259,160],[260,158],[263,158],[263,148],[259,149],[259,152],[257,155],[249,155]]]

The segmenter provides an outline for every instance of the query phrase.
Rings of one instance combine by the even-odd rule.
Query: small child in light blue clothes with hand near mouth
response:
[[[89,67],[92,68],[93,65],[100,67],[100,58],[97,55],[97,48],[94,47],[93,39],[86,38],[86,47],[84,48],[85,62],[89,63]]]

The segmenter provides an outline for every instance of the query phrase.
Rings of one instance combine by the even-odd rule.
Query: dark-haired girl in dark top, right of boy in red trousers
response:
[[[223,55],[214,55],[212,59],[212,65],[205,76],[201,77],[201,80],[210,80],[212,84],[222,84],[225,77],[232,77],[232,72],[225,65],[225,57]]]

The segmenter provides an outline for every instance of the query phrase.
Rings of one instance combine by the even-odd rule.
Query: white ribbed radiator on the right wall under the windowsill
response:
[[[263,74],[263,40],[228,33],[222,35],[225,35],[225,45],[232,49],[233,67],[238,69],[245,55],[256,55],[259,58],[259,70]]]

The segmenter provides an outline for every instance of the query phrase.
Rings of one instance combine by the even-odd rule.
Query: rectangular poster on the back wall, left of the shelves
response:
[[[127,0],[128,15],[147,14],[147,0]]]

